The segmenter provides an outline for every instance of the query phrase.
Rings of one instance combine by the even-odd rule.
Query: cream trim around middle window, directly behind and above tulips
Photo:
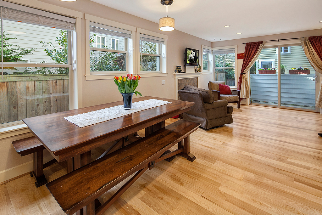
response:
[[[96,74],[91,74],[90,73],[90,22],[98,23],[98,24],[104,24],[108,25],[111,27],[116,27],[116,28],[121,28],[125,29],[128,31],[131,31],[131,39],[128,39],[128,59],[126,62],[126,71],[123,71],[124,73],[96,73]],[[133,73],[133,68],[135,68],[135,64],[133,59],[135,59],[135,54],[133,52],[133,45],[132,41],[135,40],[135,34],[136,32],[136,27],[127,25],[127,24],[122,24],[118,22],[114,22],[108,19],[103,19],[97,16],[85,14],[85,50],[86,50],[86,73],[85,73],[85,78],[86,80],[100,80],[100,79],[113,79],[116,75],[117,76],[123,76],[126,75],[127,73]],[[106,51],[106,50],[105,50]],[[117,52],[121,53],[123,51],[120,50],[112,50],[108,49],[109,52]]]

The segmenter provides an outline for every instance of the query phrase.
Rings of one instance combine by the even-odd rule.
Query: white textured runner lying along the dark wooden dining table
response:
[[[110,108],[105,108],[97,111],[92,111],[88,113],[81,113],[73,116],[64,117],[65,120],[74,123],[79,127],[85,127],[88,125],[96,124],[99,122],[108,121],[121,116],[125,116],[131,113],[147,110],[171,102],[149,99],[145,101],[132,103],[132,109],[124,110],[123,105],[118,105]]]

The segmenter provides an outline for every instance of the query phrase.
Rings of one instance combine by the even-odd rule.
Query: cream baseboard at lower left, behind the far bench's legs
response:
[[[44,163],[52,160],[53,157],[48,155],[43,158]],[[33,161],[29,161],[7,170],[0,171],[0,185],[15,180],[33,171]]]

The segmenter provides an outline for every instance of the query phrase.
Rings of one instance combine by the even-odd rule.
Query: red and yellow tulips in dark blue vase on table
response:
[[[118,91],[122,94],[123,105],[125,110],[129,110],[132,108],[133,93],[135,93],[135,95],[139,94],[140,96],[142,96],[140,92],[135,91],[140,79],[141,77],[139,75],[135,75],[133,77],[133,74],[127,74],[127,76],[123,77],[114,77],[114,82],[116,85],[118,85]]]

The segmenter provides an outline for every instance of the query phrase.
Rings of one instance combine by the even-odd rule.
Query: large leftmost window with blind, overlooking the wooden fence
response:
[[[76,20],[3,4],[0,124],[69,110],[68,53]]]

